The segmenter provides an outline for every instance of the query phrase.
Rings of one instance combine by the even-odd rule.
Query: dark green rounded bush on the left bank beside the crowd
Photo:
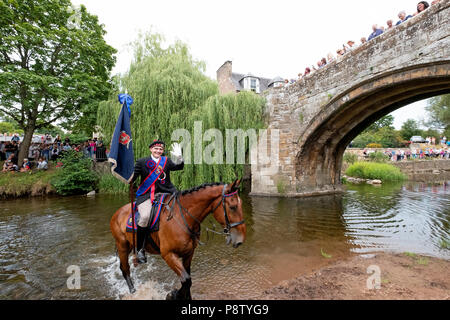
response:
[[[75,195],[95,190],[98,176],[91,170],[91,160],[84,158],[81,152],[69,150],[60,161],[62,168],[52,180],[58,194]]]

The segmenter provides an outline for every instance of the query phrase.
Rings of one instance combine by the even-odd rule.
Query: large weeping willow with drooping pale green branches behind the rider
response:
[[[218,129],[223,138],[227,129],[264,127],[263,98],[252,92],[220,96],[217,83],[203,74],[204,63],[195,61],[185,44],[176,42],[164,49],[162,41],[158,34],[141,35],[133,44],[134,60],[129,72],[117,80],[117,87],[122,92],[126,89],[134,99],[131,128],[136,159],[149,155],[148,145],[153,139],[162,139],[170,146],[172,133],[178,129],[189,131],[191,154],[195,143],[203,150],[209,143],[194,141],[196,122],[202,124],[203,131]],[[105,141],[111,141],[120,112],[118,93],[98,108],[97,124]],[[248,153],[248,141],[245,147]],[[186,189],[243,176],[244,165],[225,164],[226,154],[221,157],[222,161],[212,164],[188,163],[171,178],[178,188]]]

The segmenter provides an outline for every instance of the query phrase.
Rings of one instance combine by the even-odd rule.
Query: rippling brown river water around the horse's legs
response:
[[[378,251],[450,259],[449,183],[353,185],[343,195],[310,199],[242,195],[247,240],[233,249],[223,236],[203,232],[192,296],[257,298],[280,281]],[[0,299],[127,298],[109,230],[126,202],[107,195],[1,201]],[[214,222],[208,217],[203,227]],[[138,298],[164,299],[179,282],[159,256],[148,260],[132,268]],[[71,290],[73,266],[81,286]]]

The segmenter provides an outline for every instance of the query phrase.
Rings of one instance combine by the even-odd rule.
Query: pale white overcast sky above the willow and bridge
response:
[[[265,78],[297,78],[305,67],[348,40],[359,44],[373,24],[398,20],[397,13],[415,12],[418,0],[72,0],[83,4],[105,26],[108,44],[118,50],[112,73],[124,73],[131,63],[127,44],[140,31],[161,33],[172,44],[185,42],[193,57],[206,64],[216,79],[227,60],[233,72]],[[425,101],[393,113],[400,129],[407,119],[425,118]]]

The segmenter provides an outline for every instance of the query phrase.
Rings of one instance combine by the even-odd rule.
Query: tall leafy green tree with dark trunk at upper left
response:
[[[74,123],[110,92],[116,50],[96,16],[70,7],[70,0],[0,0],[0,115],[24,130],[19,165],[36,129]]]

